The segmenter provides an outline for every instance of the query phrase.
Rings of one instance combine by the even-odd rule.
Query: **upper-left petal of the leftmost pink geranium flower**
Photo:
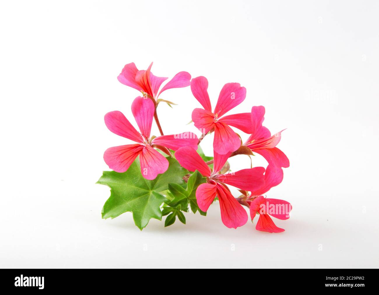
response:
[[[110,111],[106,113],[104,121],[106,127],[108,127],[111,132],[136,142],[144,142],[141,134],[130,124],[121,111]]]

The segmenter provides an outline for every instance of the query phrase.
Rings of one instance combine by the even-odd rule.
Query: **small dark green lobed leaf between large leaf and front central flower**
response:
[[[178,184],[169,184],[168,195],[171,198],[171,201],[168,202],[168,205],[171,207],[181,206],[182,210],[188,209],[188,203],[191,205],[191,210],[193,213],[199,211],[201,215],[206,215],[207,212],[203,212],[199,209],[196,201],[196,189],[200,184],[206,182],[206,178],[203,177],[199,171],[195,171],[188,179],[187,187],[184,189]]]

